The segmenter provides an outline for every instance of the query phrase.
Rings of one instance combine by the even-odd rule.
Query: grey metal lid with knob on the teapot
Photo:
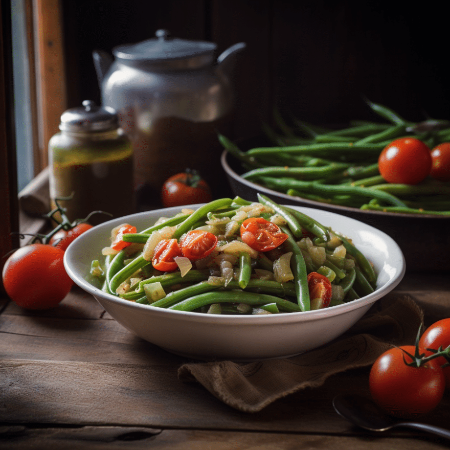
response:
[[[167,30],[161,29],[156,32],[156,38],[138,44],[119,45],[112,52],[120,59],[156,62],[204,55],[216,48],[212,42],[172,38]]]

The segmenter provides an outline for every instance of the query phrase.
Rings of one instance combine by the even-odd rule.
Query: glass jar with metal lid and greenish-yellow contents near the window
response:
[[[133,147],[115,111],[85,100],[61,115],[59,128],[48,143],[52,207],[58,199],[70,221],[112,214],[93,215],[92,225],[135,212]]]

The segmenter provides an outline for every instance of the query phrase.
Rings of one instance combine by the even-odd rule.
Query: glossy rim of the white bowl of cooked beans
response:
[[[375,231],[376,234],[382,236],[384,241],[389,244],[389,248],[395,254],[395,257],[399,260],[399,266],[397,267],[396,273],[391,276],[391,278],[380,288],[376,289],[373,293],[361,297],[357,300],[352,300],[350,302],[344,303],[343,305],[335,305],[330,306],[328,308],[313,310],[313,311],[304,311],[304,312],[294,312],[294,313],[279,313],[276,315],[212,315],[212,314],[202,314],[191,311],[177,311],[177,310],[169,310],[166,308],[158,308],[152,305],[144,305],[140,303],[136,303],[127,299],[120,298],[118,296],[112,295],[110,293],[106,293],[101,289],[95,287],[90,284],[87,280],[85,280],[84,276],[82,276],[78,270],[76,270],[74,261],[73,261],[73,253],[77,251],[78,248],[81,248],[85,241],[88,241],[91,235],[97,234],[99,232],[103,232],[108,229],[111,230],[112,227],[119,225],[124,222],[129,222],[132,219],[139,219],[146,217],[148,215],[155,215],[156,217],[166,216],[168,214],[176,214],[180,212],[183,208],[192,208],[196,209],[204,203],[185,205],[180,207],[172,207],[172,208],[161,208],[150,211],[142,211],[135,214],[129,214],[127,216],[122,216],[116,219],[111,219],[107,222],[104,222],[100,225],[96,225],[89,230],[85,231],[82,235],[80,235],[75,241],[73,241],[66,249],[64,254],[64,266],[66,268],[67,274],[74,281],[76,285],[78,285],[84,291],[93,295],[99,303],[101,301],[109,302],[109,303],[117,303],[126,308],[131,309],[142,309],[142,311],[150,311],[156,315],[172,315],[174,319],[179,320],[190,320],[190,321],[201,321],[204,323],[225,323],[225,324],[246,324],[246,323],[259,323],[259,322],[273,322],[273,324],[278,324],[280,322],[301,322],[301,321],[311,321],[311,320],[319,320],[329,316],[342,315],[349,311],[353,311],[359,308],[363,308],[368,304],[375,303],[378,299],[382,298],[384,295],[392,291],[402,280],[405,275],[406,265],[405,265],[405,256],[401,248],[398,244],[386,233],[375,228],[374,226],[365,224],[360,222],[357,219],[353,219],[337,212],[326,211],[320,208],[311,208],[303,205],[294,205],[294,207],[300,208],[302,210],[318,210],[320,213],[325,213],[331,216],[338,216],[345,221],[350,221],[354,223],[358,223],[362,225],[363,228]],[[292,205],[290,205],[292,206]],[[163,214],[163,212],[165,212]],[[308,211],[307,211],[308,212]],[[171,216],[169,216],[171,217]]]

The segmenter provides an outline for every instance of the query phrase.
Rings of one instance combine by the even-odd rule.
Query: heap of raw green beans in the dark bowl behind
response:
[[[414,123],[366,100],[382,122],[351,121],[345,129],[318,127],[274,111],[265,125],[272,145],[241,150],[224,135],[219,141],[242,165],[241,177],[277,192],[363,210],[450,216],[450,182],[428,177],[418,184],[386,182],[378,158],[393,140],[414,136],[433,148],[450,142],[450,121]]]

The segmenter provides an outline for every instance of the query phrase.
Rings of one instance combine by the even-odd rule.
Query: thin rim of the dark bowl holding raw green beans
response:
[[[298,199],[298,202],[304,203],[305,206],[309,206],[311,208],[317,208],[317,209],[336,209],[337,211],[342,212],[350,212],[350,213],[360,213],[360,214],[367,214],[372,216],[383,216],[383,217],[397,217],[397,218],[407,218],[407,219],[418,219],[418,220],[427,220],[427,219],[435,219],[435,220],[443,220],[443,221],[449,221],[450,216],[444,216],[439,214],[412,214],[412,213],[403,213],[403,212],[391,212],[391,211],[372,211],[370,209],[359,209],[359,208],[353,208],[351,206],[343,206],[343,205],[337,205],[337,204],[331,204],[331,203],[324,203],[324,202],[317,202],[315,200],[309,200],[304,199],[303,197],[298,196],[292,196],[284,194],[283,192],[274,191],[273,189],[269,189],[268,187],[261,186],[260,184],[253,183],[252,181],[246,180],[245,178],[242,178],[238,173],[236,173],[228,163],[228,156],[231,158],[234,158],[233,155],[228,152],[228,150],[224,150],[221,155],[221,164],[222,168],[225,170],[225,173],[233,178],[234,180],[245,184],[247,187],[255,190],[262,191],[268,195],[277,195],[278,197],[284,199],[285,201],[292,202],[293,200]],[[237,160],[237,159],[236,159]],[[303,204],[299,204],[299,206],[303,206]]]

